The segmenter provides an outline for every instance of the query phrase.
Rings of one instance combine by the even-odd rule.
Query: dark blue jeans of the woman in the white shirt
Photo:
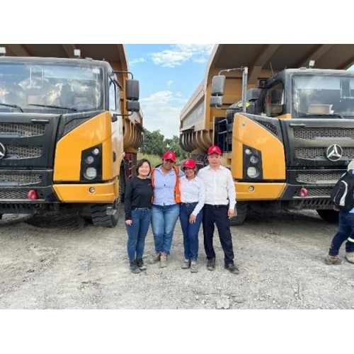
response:
[[[189,259],[192,262],[196,262],[198,259],[199,240],[198,234],[200,224],[202,224],[202,210],[198,212],[198,215],[193,224],[190,224],[189,217],[195,209],[195,202],[191,205],[181,205],[179,212],[179,221],[181,222],[183,232],[183,246],[184,246],[184,258]]]

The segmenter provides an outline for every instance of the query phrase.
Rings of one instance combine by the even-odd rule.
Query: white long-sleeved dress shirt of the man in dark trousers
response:
[[[205,204],[229,205],[229,209],[234,209],[236,190],[229,169],[219,166],[219,169],[214,171],[208,165],[199,170],[198,177],[205,185]]]

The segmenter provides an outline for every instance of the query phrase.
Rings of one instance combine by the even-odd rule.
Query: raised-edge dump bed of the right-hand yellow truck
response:
[[[205,79],[181,110],[180,141],[183,149],[202,154],[213,143],[214,117],[221,114],[220,110],[209,106],[212,76],[222,69],[248,67],[247,89],[252,89],[259,79],[268,79],[285,68],[307,67],[310,60],[316,61],[316,69],[348,69],[354,63],[354,45],[215,45]],[[241,100],[241,72],[230,72],[227,77],[224,107]]]

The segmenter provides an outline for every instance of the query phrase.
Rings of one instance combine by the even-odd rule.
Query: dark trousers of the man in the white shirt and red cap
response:
[[[220,243],[224,251],[225,264],[234,263],[230,220],[227,216],[228,211],[228,205],[216,207],[205,204],[202,213],[202,232],[204,235],[204,249],[207,259],[215,258],[215,251],[212,246],[212,237],[214,236],[215,224],[217,224]]]

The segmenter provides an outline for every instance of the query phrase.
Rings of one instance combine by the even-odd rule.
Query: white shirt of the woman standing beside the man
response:
[[[205,202],[205,185],[202,179],[195,176],[193,180],[188,181],[186,176],[180,177],[179,191],[181,193],[181,202],[198,202],[192,212],[193,215],[197,216]]]

